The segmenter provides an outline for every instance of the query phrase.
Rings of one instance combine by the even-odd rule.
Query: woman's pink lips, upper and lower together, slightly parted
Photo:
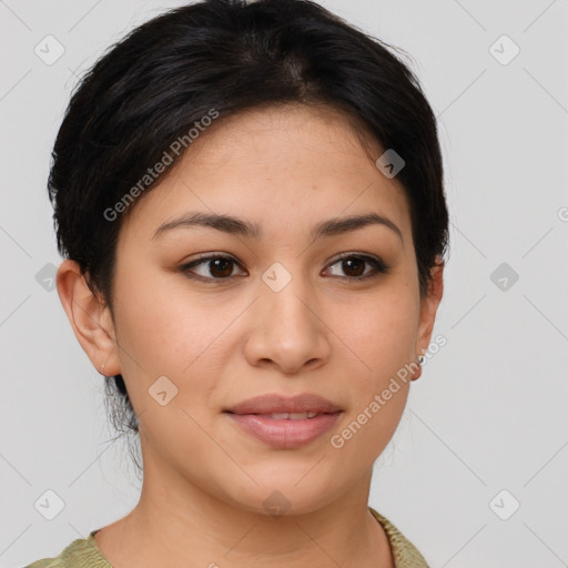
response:
[[[241,432],[277,449],[310,444],[327,432],[342,409],[318,395],[265,395],[225,410]]]

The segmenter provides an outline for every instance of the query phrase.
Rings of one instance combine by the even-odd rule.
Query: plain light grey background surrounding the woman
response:
[[[181,3],[0,1],[2,567],[55,556],[138,500],[102,378],[49,291],[60,258],[44,187],[77,74]],[[568,566],[568,0],[324,6],[412,55],[440,121],[452,219],[434,331],[447,345],[413,384],[371,505],[433,567]],[[48,34],[64,48],[50,65],[34,52],[57,54]],[[510,61],[503,34],[520,49]],[[49,489],[64,503],[53,520],[34,507]]]

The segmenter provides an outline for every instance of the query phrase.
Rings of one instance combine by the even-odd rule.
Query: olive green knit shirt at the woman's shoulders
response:
[[[395,568],[428,568],[420,552],[388,519],[372,507],[369,510],[386,532]],[[97,546],[95,532],[97,530],[93,530],[85,539],[73,540],[58,557],[37,560],[26,568],[112,568]]]

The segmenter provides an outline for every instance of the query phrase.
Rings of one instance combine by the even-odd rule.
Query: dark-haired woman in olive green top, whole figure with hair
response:
[[[162,14],[82,80],[49,190],[143,486],[31,567],[427,566],[367,505],[448,234],[434,114],[384,44],[304,0]]]

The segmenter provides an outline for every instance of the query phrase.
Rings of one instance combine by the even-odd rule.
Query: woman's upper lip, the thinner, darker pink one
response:
[[[225,412],[233,414],[337,413],[341,412],[341,408],[331,400],[315,394],[296,396],[272,394],[248,398]]]

